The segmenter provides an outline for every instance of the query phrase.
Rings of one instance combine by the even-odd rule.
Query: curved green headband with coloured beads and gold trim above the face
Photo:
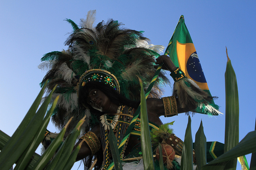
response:
[[[79,95],[80,88],[88,82],[102,82],[120,93],[120,86],[116,76],[107,70],[92,69],[84,72],[77,83],[77,95]]]

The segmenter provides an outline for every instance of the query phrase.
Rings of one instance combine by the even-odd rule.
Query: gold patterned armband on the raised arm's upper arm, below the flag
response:
[[[164,117],[170,117],[178,114],[177,102],[174,96],[162,98],[164,103]]]

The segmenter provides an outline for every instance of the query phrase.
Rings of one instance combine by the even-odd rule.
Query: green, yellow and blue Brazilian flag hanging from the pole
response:
[[[164,54],[168,54],[175,66],[180,67],[188,78],[194,80],[202,90],[211,96],[202,66],[186,27],[183,15],[180,16],[180,20]],[[213,100],[210,102],[210,105],[217,110],[219,108],[218,105],[214,104]],[[218,115],[217,112],[210,113],[205,107],[197,107],[193,111],[203,114]]]

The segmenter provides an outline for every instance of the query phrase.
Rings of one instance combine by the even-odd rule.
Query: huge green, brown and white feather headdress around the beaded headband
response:
[[[89,121],[94,120],[90,111],[78,104],[76,86],[84,72],[103,69],[114,74],[120,85],[120,94],[130,100],[139,100],[136,75],[143,80],[146,89],[156,70],[154,59],[164,49],[163,46],[151,45],[141,31],[121,27],[118,21],[102,21],[93,27],[95,14],[96,10],[89,11],[86,20],[80,20],[80,27],[66,19],[73,27],[73,33],[65,42],[68,49],[45,54],[41,59],[43,63],[39,65],[40,69],[49,70],[41,83],[43,85],[48,80],[46,96],[58,84],[53,96],[60,95],[60,100],[52,116],[56,127],[62,129],[74,116],[68,133],[84,115],[87,115],[84,131],[90,129]],[[160,97],[158,85],[161,82],[169,83],[163,73],[152,88],[152,97]]]

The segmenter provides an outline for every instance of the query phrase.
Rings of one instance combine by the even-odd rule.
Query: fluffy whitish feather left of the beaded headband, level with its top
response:
[[[62,78],[68,83],[71,84],[72,79],[76,74],[71,70],[66,63],[62,63],[59,67],[58,71],[56,72],[58,76],[62,76]]]

